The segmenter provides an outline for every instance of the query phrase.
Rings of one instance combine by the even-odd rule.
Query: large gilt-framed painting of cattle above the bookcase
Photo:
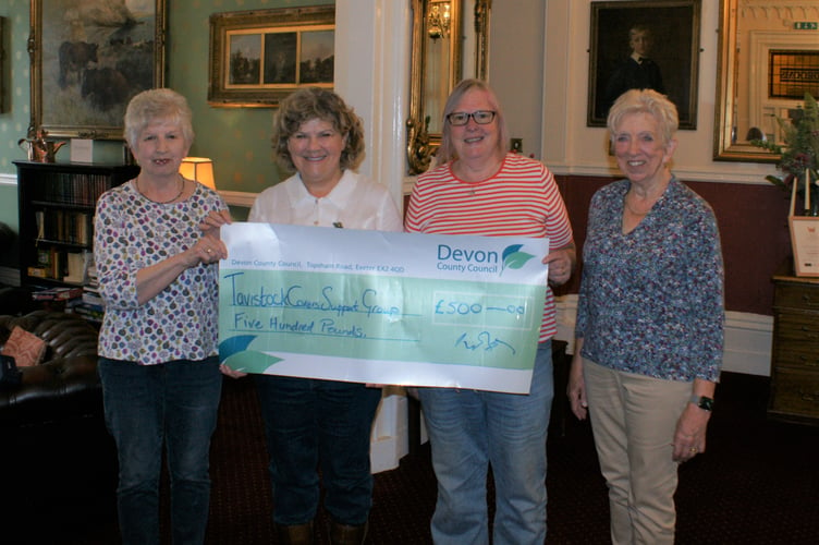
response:
[[[122,140],[125,107],[164,84],[166,0],[30,0],[32,123]]]

